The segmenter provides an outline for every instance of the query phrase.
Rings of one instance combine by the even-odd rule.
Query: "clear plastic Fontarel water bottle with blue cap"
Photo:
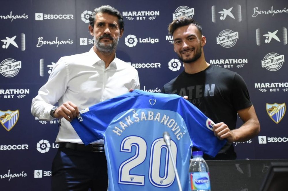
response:
[[[202,151],[193,151],[189,166],[189,190],[211,191],[209,168]]]

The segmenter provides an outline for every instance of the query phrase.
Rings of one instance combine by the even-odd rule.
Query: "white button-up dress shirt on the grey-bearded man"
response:
[[[50,110],[54,104],[71,101],[79,111],[89,106],[128,93],[129,89],[140,89],[138,72],[131,65],[116,58],[105,69],[105,63],[93,48],[83,54],[64,56],[54,66],[48,81],[33,98],[33,116],[50,121]],[[113,111],[111,111],[113,112]],[[70,122],[61,119],[56,142],[83,144]],[[95,143],[102,143],[103,140]]]

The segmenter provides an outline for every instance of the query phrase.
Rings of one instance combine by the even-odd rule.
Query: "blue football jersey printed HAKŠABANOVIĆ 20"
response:
[[[214,157],[226,143],[214,136],[213,122],[181,96],[141,90],[86,108],[71,124],[85,145],[104,139],[111,191],[178,190],[165,131],[183,190],[191,148]]]

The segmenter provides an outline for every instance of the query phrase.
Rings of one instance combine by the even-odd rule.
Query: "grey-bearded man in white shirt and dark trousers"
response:
[[[60,119],[52,163],[52,190],[107,190],[103,140],[85,146],[70,122],[79,111],[98,102],[140,89],[137,70],[116,57],[124,33],[120,12],[109,5],[95,8],[89,52],[59,59],[45,85],[33,98],[31,113],[41,120]],[[54,106],[58,102],[58,106]]]

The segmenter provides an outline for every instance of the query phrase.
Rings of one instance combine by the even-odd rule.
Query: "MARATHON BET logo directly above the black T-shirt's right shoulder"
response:
[[[248,59],[213,59],[210,60],[210,64],[217,65],[224,68],[233,68],[236,65],[237,68],[242,68],[248,63]]]

